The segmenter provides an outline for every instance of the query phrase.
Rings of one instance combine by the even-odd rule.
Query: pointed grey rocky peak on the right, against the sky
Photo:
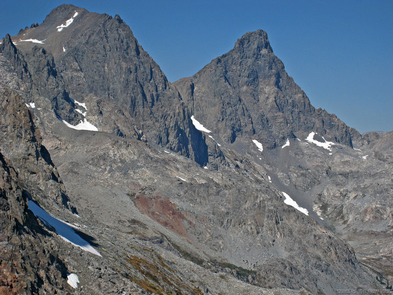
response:
[[[266,32],[249,32],[228,53],[173,83],[191,112],[226,142],[254,136],[272,149],[318,132],[352,146],[360,134],[311,106],[270,47]]]

